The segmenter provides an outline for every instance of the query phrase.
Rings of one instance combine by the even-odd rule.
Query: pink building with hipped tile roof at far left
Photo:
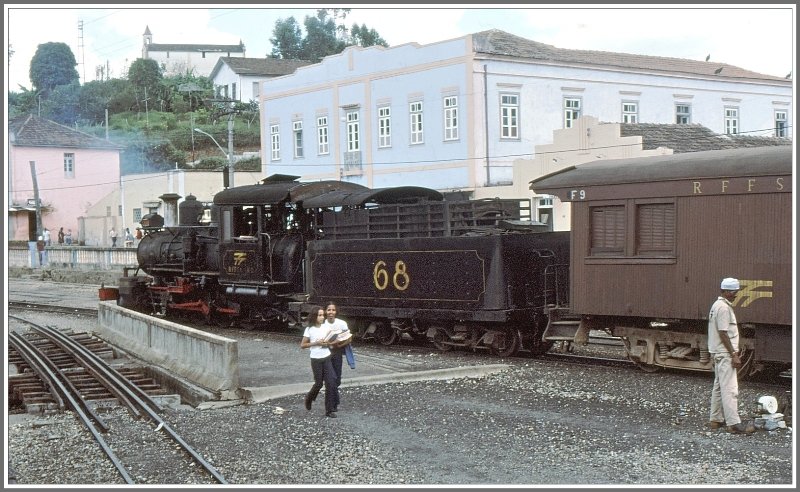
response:
[[[79,218],[119,189],[123,147],[34,115],[13,119],[8,132],[9,240],[36,240],[38,189],[42,227],[50,230],[52,243],[63,227],[72,229],[73,242],[80,244]],[[119,206],[108,209],[113,224]]]

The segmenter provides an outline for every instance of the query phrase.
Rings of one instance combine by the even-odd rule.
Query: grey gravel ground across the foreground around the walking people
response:
[[[703,427],[708,377],[506,362],[508,370],[483,378],[344,388],[337,419],[324,416],[321,399],[306,411],[298,395],[217,410],[182,407],[166,420],[231,484],[793,483],[791,429],[740,436]],[[774,392],[743,382],[742,413]],[[97,447],[70,416],[9,425],[19,483],[121,483]],[[137,460],[132,474],[142,483],[185,483],[149,471],[149,460],[163,457]]]

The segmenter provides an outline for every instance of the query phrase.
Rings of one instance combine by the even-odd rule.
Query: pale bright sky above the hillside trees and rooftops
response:
[[[208,4],[207,6],[214,6]],[[263,5],[263,4],[262,4]],[[263,8],[97,4],[85,8],[6,4],[7,90],[31,89],[30,61],[39,44],[66,43],[81,82],[97,80],[97,67],[124,77],[141,56],[146,27],[157,44],[239,44],[246,56],[268,55],[275,21],[313,16],[319,5]],[[80,7],[80,5],[78,6]],[[204,6],[205,7],[205,6]],[[373,7],[373,8],[370,8]],[[444,7],[444,8],[442,8]],[[487,29],[502,29],[559,48],[705,60],[784,77],[795,64],[795,11],[788,4],[690,6],[355,5],[345,19],[375,29],[390,46],[428,44]],[[13,52],[13,53],[12,53]],[[10,59],[9,59],[10,57]]]

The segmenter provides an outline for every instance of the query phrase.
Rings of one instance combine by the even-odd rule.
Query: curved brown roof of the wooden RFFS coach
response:
[[[753,147],[588,162],[534,179],[530,189],[551,193],[587,186],[791,173],[791,146]]]

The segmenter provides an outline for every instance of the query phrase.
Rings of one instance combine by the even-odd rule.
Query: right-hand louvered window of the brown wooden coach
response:
[[[675,204],[636,207],[636,254],[664,255],[675,250]]]

